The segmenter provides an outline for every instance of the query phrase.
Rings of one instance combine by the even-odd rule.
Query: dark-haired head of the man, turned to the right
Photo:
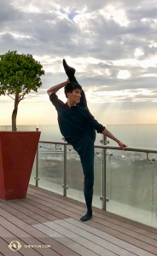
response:
[[[82,86],[78,83],[68,83],[64,87],[64,92],[68,100],[78,103],[81,98]]]

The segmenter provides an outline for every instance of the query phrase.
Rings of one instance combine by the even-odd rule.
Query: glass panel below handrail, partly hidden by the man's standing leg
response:
[[[67,146],[67,197],[84,202],[84,175],[78,153]],[[102,208],[102,149],[95,148],[95,186],[93,206]]]

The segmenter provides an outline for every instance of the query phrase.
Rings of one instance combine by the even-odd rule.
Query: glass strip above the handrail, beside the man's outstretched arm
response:
[[[157,125],[107,125],[109,131],[128,147],[156,148]],[[108,138],[109,145],[116,145]]]

